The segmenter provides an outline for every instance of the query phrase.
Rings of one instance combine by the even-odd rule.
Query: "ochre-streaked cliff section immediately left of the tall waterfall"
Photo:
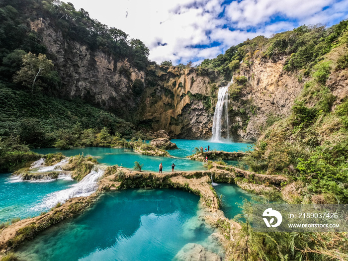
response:
[[[210,138],[214,113],[210,93],[221,77],[207,69],[161,66],[153,70],[157,83],[147,87],[142,122],[174,138]]]

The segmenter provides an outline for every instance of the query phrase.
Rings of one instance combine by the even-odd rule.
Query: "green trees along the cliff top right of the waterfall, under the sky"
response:
[[[338,43],[347,43],[347,35],[345,35],[347,26],[348,21],[342,21],[330,28],[322,25],[302,25],[292,31],[278,33],[269,39],[258,36],[230,47],[225,54],[220,54],[214,59],[205,59],[200,66],[216,69],[225,76],[231,77],[231,72],[238,70],[241,61],[249,66],[252,62],[251,58],[277,60],[288,56],[284,66],[285,71],[311,70],[323,59],[322,56],[330,52]],[[344,35],[345,38],[342,37]],[[343,59],[339,68],[345,66],[346,62]],[[305,72],[307,75],[309,73],[310,71]]]

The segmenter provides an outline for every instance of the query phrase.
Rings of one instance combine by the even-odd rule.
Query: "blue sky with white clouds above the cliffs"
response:
[[[348,18],[348,0],[69,0],[101,23],[142,40],[150,60],[215,58],[258,35]]]

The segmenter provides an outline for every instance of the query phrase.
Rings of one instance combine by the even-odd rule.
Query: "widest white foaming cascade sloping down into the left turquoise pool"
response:
[[[98,188],[97,181],[104,174],[103,169],[94,167],[79,183],[71,185],[69,188],[48,194],[34,210],[45,210],[54,207],[58,202],[65,203],[73,197],[86,197],[91,195]]]

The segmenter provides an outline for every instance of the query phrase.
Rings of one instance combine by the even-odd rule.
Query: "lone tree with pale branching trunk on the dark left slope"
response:
[[[51,77],[53,66],[52,61],[48,60],[45,54],[36,56],[29,52],[22,56],[22,67],[13,76],[13,81],[29,87],[33,95],[34,88],[43,85],[41,79]]]

